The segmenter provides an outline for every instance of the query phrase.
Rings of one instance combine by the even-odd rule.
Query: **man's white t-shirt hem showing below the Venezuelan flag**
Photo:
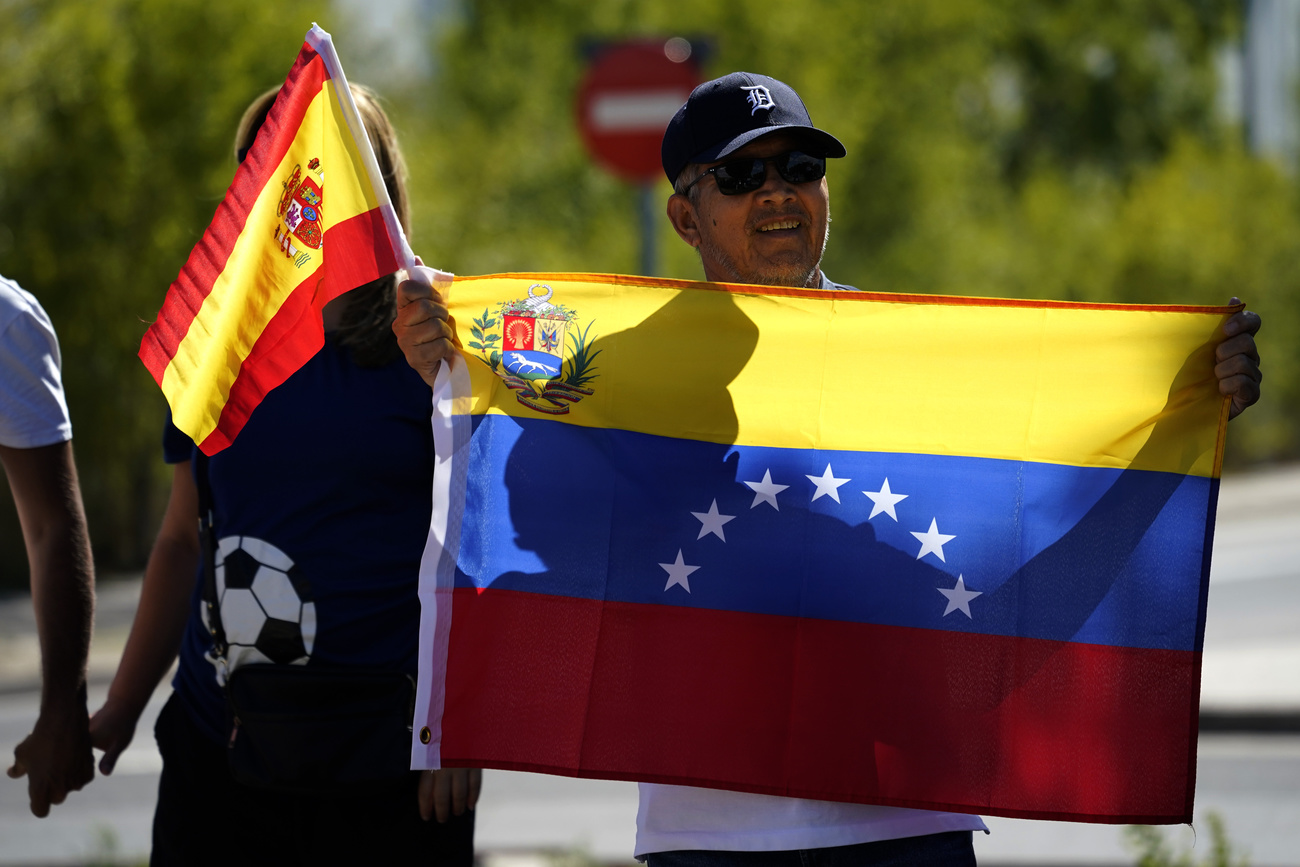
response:
[[[946,831],[988,831],[983,819],[965,812],[805,801],[655,783],[642,783],[638,788],[638,858],[681,849],[781,851]]]

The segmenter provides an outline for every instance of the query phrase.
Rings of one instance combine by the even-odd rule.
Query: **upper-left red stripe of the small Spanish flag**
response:
[[[190,252],[179,276],[168,290],[157,318],[140,342],[140,360],[159,385],[162,385],[162,374],[188,333],[194,317],[199,315],[204,299],[225,270],[235,240],[243,234],[248,212],[261,191],[274,182],[272,174],[292,144],[307,107],[328,79],[325,61],[304,44],[252,149],[235,170],[225,199],[217,205],[212,222]]]

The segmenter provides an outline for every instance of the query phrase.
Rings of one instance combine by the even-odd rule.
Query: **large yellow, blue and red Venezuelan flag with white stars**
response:
[[[451,296],[415,767],[1191,818],[1231,308]]]

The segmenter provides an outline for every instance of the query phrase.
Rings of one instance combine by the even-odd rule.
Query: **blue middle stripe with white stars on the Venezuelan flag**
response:
[[[1200,650],[1216,480],[474,421],[458,586]]]

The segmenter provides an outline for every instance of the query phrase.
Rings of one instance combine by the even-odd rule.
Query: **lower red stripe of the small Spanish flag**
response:
[[[204,454],[214,455],[229,446],[266,393],[320,351],[325,343],[321,322],[325,304],[398,269],[384,214],[377,208],[330,226],[321,250],[325,263],[289,294],[239,367],[216,430],[199,443]],[[335,250],[347,255],[330,257]],[[324,277],[318,277],[321,273]]]

